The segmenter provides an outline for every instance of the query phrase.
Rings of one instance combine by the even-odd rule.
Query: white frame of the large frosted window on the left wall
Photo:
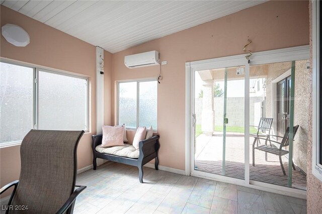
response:
[[[90,118],[90,112],[89,112],[89,106],[90,106],[90,88],[89,88],[89,77],[81,74],[75,74],[72,72],[64,71],[64,70],[59,70],[59,69],[54,69],[54,68],[48,68],[45,66],[39,66],[31,63],[25,63],[25,62],[20,62],[12,59],[7,59],[0,57],[0,62],[2,63],[7,63],[7,64],[12,64],[12,65],[17,65],[17,66],[22,66],[22,67],[27,67],[27,68],[32,68],[33,69],[33,77],[32,77],[32,84],[33,84],[33,97],[32,97],[32,124],[30,126],[30,129],[37,129],[37,123],[38,123],[38,73],[39,71],[44,71],[44,72],[49,72],[49,73],[54,73],[58,75],[64,75],[64,76],[69,76],[69,77],[74,77],[74,78],[80,78],[80,79],[85,79],[87,82],[87,94],[86,94],[86,130],[85,133],[89,133],[89,118]],[[0,143],[0,148],[5,148],[5,147],[10,147],[10,146],[16,146],[20,145],[22,140],[20,141],[12,141],[12,142],[6,142],[6,143]]]

